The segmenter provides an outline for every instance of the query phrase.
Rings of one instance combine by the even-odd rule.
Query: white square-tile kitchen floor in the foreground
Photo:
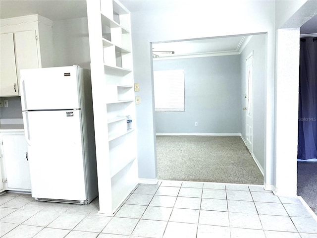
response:
[[[109,216],[88,205],[0,196],[3,238],[317,238],[300,199],[258,185],[160,181],[139,184]]]

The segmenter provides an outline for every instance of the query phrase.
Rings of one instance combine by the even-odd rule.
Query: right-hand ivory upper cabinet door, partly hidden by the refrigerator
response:
[[[20,79],[20,69],[39,67],[36,33],[34,30],[15,32],[14,38],[17,75]]]

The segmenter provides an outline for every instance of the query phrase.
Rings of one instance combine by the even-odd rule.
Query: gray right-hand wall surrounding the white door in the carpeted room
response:
[[[254,35],[240,55],[241,61],[241,104],[246,106],[245,98],[245,60],[253,51],[253,154],[264,170],[265,141],[265,60],[266,35]],[[242,108],[241,108],[242,109]],[[241,134],[246,138],[245,111],[241,110]]]

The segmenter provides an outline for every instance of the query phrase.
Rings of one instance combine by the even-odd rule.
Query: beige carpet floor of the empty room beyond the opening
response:
[[[240,136],[157,136],[158,179],[263,184]]]

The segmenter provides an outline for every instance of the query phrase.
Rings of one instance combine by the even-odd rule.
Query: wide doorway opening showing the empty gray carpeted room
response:
[[[266,45],[265,33],[152,43],[153,70],[183,69],[185,87],[184,112],[155,113],[158,179],[264,184]],[[247,71],[252,52],[254,69]],[[251,99],[254,135],[246,126]],[[254,149],[246,147],[247,135]]]

